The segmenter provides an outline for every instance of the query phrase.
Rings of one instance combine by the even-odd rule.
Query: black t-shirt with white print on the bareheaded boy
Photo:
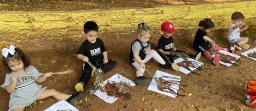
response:
[[[103,52],[106,51],[105,45],[100,38],[96,38],[95,43],[90,43],[88,40],[84,41],[80,46],[77,55],[82,54],[89,58],[89,61],[103,60]]]

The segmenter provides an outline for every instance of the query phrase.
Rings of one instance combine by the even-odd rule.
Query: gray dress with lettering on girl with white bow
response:
[[[6,74],[4,84],[1,85],[1,88],[6,89],[11,83],[13,83],[10,74],[11,73]],[[39,76],[22,76],[37,74],[40,73],[33,66],[29,66],[22,73],[14,73],[15,76],[19,75],[20,77],[17,79],[14,92],[10,94],[9,110],[31,105],[38,98],[41,92],[47,89],[47,87],[42,88],[41,85],[36,83]]]

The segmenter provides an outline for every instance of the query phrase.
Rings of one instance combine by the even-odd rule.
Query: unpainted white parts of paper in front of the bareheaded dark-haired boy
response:
[[[104,84],[106,84],[107,81],[115,81],[115,82],[123,81],[123,82],[126,82],[126,83],[130,83],[131,87],[136,86],[136,84],[133,81],[131,81],[131,80],[125,78],[124,76],[119,75],[119,74],[115,74],[112,77],[110,77],[109,79],[107,79],[106,81],[104,81],[102,86],[104,86]],[[93,93],[93,94],[100,97],[100,99],[102,99],[103,101],[105,101],[107,103],[113,103],[116,100],[118,100],[118,98],[108,96],[106,92],[101,92],[100,89],[96,90],[96,92]]]

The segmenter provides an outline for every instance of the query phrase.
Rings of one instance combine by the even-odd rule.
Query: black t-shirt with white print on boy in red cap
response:
[[[166,38],[162,35],[158,41],[157,49],[162,49],[163,51],[172,51],[173,37],[170,36],[169,38]]]

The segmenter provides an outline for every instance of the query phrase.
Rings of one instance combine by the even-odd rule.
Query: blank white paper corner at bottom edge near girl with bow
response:
[[[66,102],[65,100],[54,103],[54,105],[52,105],[50,108],[45,109],[44,111],[59,111],[59,110],[79,111],[78,109],[70,105],[70,103]]]

